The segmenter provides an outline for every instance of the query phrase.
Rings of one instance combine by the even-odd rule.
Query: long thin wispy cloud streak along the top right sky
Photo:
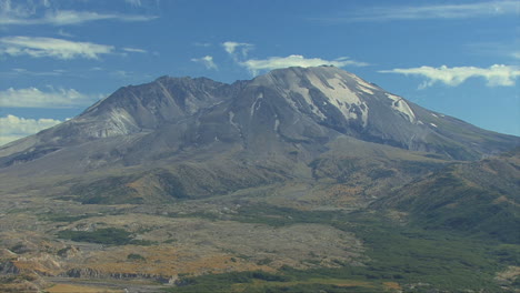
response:
[[[314,20],[324,22],[424,20],[424,19],[469,19],[518,16],[520,2],[517,0],[486,1],[462,4],[430,6],[384,6],[371,7],[338,17],[324,17]]]

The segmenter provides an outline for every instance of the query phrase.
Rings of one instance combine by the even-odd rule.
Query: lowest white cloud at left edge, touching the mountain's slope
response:
[[[16,115],[0,118],[0,145],[34,134],[62,121],[54,119],[26,119]]]

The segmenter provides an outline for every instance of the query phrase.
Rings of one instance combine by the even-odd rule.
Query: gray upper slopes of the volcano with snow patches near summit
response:
[[[456,160],[520,144],[334,67],[288,68],[232,84],[163,77],[121,88],[72,120],[0,148],[0,173],[80,174],[223,153],[308,164],[340,137]]]

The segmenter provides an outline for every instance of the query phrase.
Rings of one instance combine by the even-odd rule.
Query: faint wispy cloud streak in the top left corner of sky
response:
[[[139,1],[133,1],[139,2]],[[140,2],[139,2],[140,4]],[[99,13],[94,11],[58,10],[50,4],[36,4],[32,1],[13,4],[10,0],[0,1],[0,26],[70,26],[99,20],[150,21],[154,16]]]

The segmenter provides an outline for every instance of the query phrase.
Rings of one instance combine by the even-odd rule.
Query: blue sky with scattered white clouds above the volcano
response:
[[[0,0],[0,144],[161,75],[334,64],[520,135],[520,1]]]

